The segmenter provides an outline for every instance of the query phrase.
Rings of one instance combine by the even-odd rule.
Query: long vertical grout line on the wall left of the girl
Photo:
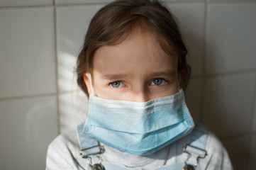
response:
[[[59,79],[58,79],[58,52],[57,52],[57,11],[56,1],[53,0],[54,6],[54,34],[55,34],[55,81],[56,81],[56,100],[57,100],[57,131],[60,134],[60,90],[59,90]]]

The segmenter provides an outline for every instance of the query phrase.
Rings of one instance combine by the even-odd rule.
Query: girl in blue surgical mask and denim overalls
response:
[[[92,18],[77,59],[89,113],[48,148],[47,169],[232,169],[184,101],[190,67],[158,1],[113,1]]]

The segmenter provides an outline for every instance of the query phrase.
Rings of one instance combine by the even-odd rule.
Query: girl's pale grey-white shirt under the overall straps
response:
[[[223,147],[221,142],[202,125],[196,125],[196,128],[194,128],[189,135],[182,137],[182,139],[173,142],[171,145],[146,156],[121,152],[117,149],[101,144],[104,146],[105,152],[103,154],[99,154],[99,156],[90,156],[91,164],[99,164],[99,162],[101,162],[105,166],[106,170],[108,170],[107,167],[112,167],[111,170],[113,170],[113,167],[115,167],[115,169],[147,170],[165,169],[167,166],[167,169],[172,169],[172,167],[182,167],[184,166],[184,161],[188,155],[183,152],[184,145],[191,142],[191,139],[196,135],[199,135],[202,130],[206,132],[204,134],[206,139],[204,149],[206,149],[207,155],[206,158],[199,159],[197,169],[233,169],[226,149]],[[79,156],[79,151],[81,149],[79,142],[81,141],[79,141],[78,135],[79,132],[74,130],[56,137],[48,147],[46,169],[90,169],[88,164],[89,160]],[[198,139],[194,141],[197,142],[197,140]],[[182,166],[176,166],[179,164],[182,164]]]

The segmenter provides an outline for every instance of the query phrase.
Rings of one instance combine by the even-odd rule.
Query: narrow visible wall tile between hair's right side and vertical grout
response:
[[[204,57],[204,4],[169,4],[169,8],[177,16],[187,42],[188,62],[193,67],[191,74],[201,75]]]

